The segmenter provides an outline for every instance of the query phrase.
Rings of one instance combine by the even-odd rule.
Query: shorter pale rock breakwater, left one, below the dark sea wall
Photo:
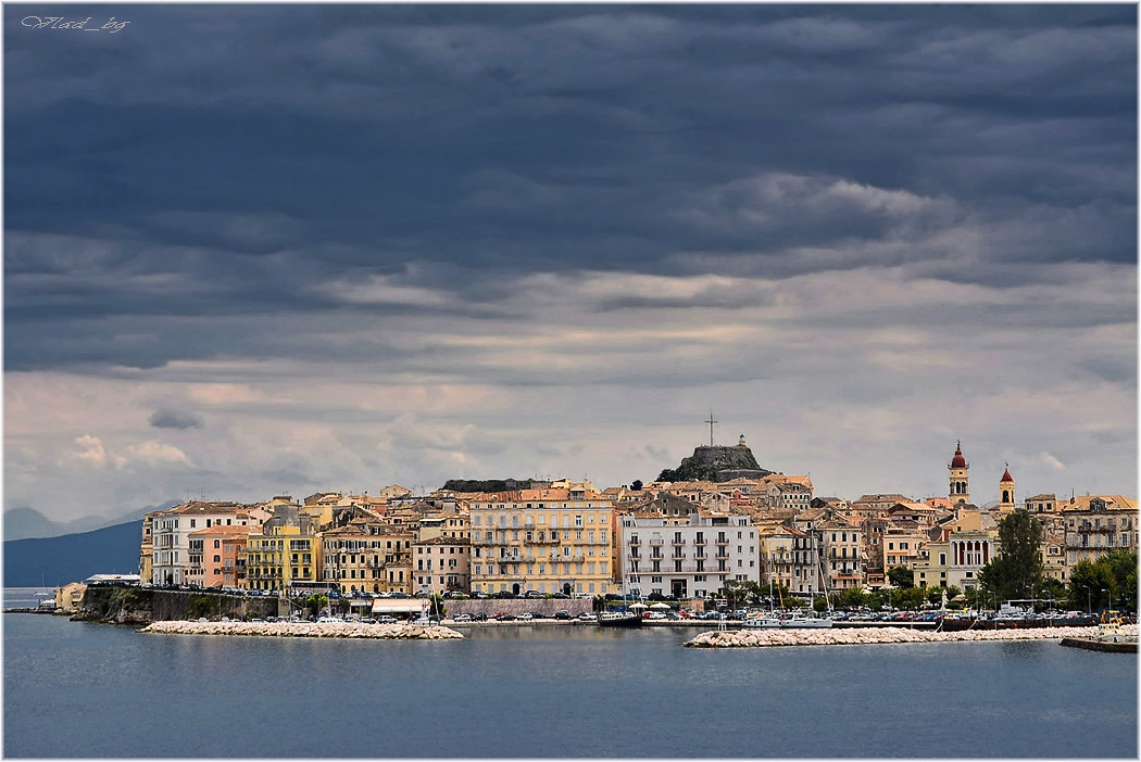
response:
[[[450,628],[353,622],[155,622],[139,632],[160,634],[253,636],[267,638],[373,638],[381,640],[452,640]]]

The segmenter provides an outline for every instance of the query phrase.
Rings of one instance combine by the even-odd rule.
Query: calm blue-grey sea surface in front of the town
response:
[[[688,629],[464,632],[146,636],[6,614],[3,755],[1138,756],[1135,655],[1052,641],[706,650],[681,647],[699,632]]]

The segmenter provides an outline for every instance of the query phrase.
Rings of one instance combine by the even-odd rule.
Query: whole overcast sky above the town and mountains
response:
[[[1134,5],[3,14],[6,509],[1136,494]]]

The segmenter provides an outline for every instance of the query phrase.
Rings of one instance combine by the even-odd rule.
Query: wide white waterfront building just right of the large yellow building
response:
[[[629,595],[705,598],[727,580],[760,582],[756,527],[747,516],[693,513],[687,523],[626,514],[622,582]]]

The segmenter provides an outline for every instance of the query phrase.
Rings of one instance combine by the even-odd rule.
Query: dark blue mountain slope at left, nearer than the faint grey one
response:
[[[137,574],[143,522],[57,538],[5,540],[3,587],[59,587],[92,574]]]

